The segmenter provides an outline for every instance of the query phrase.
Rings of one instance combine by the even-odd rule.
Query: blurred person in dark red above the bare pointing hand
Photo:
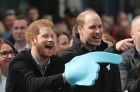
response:
[[[111,35],[118,42],[120,40],[130,38],[130,22],[124,11],[120,11],[117,16],[116,23],[112,29]]]

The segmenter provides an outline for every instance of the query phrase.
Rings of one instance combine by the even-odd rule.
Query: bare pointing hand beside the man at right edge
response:
[[[133,47],[134,44],[132,38],[124,39],[116,43],[116,50],[118,51],[127,51]]]

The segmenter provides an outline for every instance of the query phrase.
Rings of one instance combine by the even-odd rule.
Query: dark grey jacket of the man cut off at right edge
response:
[[[122,54],[119,65],[122,89],[128,92],[140,92],[140,53],[135,48]]]

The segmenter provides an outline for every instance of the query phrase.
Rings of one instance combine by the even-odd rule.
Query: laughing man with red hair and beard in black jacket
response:
[[[54,24],[48,20],[33,22],[25,32],[30,45],[9,66],[6,92],[58,92],[64,85],[64,66],[54,52]],[[50,76],[50,77],[48,77]]]

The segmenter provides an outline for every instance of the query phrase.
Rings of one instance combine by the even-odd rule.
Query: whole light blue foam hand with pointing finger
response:
[[[64,76],[71,85],[94,85],[98,78],[98,63],[119,64],[122,57],[108,52],[90,52],[74,57],[65,64]]]

